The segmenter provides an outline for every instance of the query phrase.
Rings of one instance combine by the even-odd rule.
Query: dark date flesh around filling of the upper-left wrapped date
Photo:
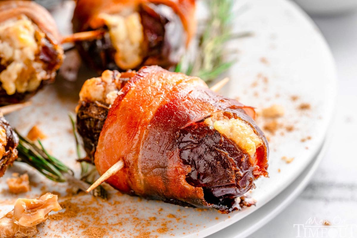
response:
[[[41,41],[41,50],[36,61],[42,61],[45,64],[45,68],[47,71],[48,79],[43,80],[40,83],[40,86],[31,92],[15,92],[12,95],[8,95],[6,91],[1,88],[0,85],[0,105],[10,105],[14,103],[20,103],[29,100],[32,96],[36,94],[38,90],[40,90],[44,85],[49,84],[54,81],[56,66],[59,65],[61,59],[59,58],[59,54],[53,44],[47,39],[42,39]],[[1,58],[0,58],[1,60]],[[0,65],[0,72],[6,69],[6,66]]]

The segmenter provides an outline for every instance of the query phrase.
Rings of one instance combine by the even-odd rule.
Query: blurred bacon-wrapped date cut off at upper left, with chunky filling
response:
[[[0,104],[26,100],[54,80],[63,50],[54,19],[33,1],[0,1]]]

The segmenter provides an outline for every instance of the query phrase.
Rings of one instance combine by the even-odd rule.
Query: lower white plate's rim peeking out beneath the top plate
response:
[[[330,140],[323,143],[321,150],[318,152],[313,161],[308,164],[306,169],[291,183],[284,191],[279,193],[274,199],[265,204],[263,207],[245,217],[241,221],[232,224],[231,226],[216,232],[207,238],[245,238],[270,222],[280,212],[283,211],[297,196],[305,189],[308,182],[315,174],[318,165],[326,154],[326,150],[330,145]]]

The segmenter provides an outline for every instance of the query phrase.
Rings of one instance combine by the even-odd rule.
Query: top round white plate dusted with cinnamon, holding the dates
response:
[[[237,1],[237,6],[239,3]],[[0,216],[11,209],[18,197],[7,192],[5,183],[6,177],[15,171],[27,171],[34,185],[31,192],[21,197],[57,192],[61,194],[61,202],[70,201],[72,207],[79,208],[73,217],[50,219],[42,224],[40,237],[86,237],[93,228],[113,237],[206,237],[240,221],[283,191],[306,169],[322,145],[335,101],[335,65],[320,32],[291,2],[251,0],[236,12],[235,31],[249,31],[253,36],[228,45],[232,51],[238,52],[238,61],[230,71],[231,80],[222,90],[223,94],[238,96],[242,103],[258,110],[272,104],[285,108],[285,116],[278,121],[280,129],[275,135],[269,135],[270,178],[259,179],[251,193],[257,201],[255,207],[220,214],[215,210],[202,211],[118,196],[115,191],[109,201],[95,200],[85,194],[70,197],[66,196],[67,184],[47,181],[31,168],[16,163],[0,181]],[[62,25],[65,22],[64,17],[57,17],[57,20]],[[60,29],[67,28],[60,26]],[[77,81],[77,84],[82,82]],[[48,136],[43,141],[45,147],[78,173],[75,142],[67,113],[74,111],[79,88],[69,90],[66,86],[57,80],[33,98],[31,107],[13,113],[7,119],[24,134],[33,125],[38,125]],[[298,96],[298,99],[293,101],[292,96]],[[301,103],[309,103],[311,108],[299,110]],[[263,126],[259,117],[258,124]],[[293,126],[294,130],[288,132],[287,126]],[[282,161],[283,156],[294,159],[287,164]]]

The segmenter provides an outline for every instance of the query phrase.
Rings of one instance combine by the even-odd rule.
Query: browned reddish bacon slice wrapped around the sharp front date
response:
[[[180,159],[176,141],[180,128],[217,111],[233,113],[262,138],[264,145],[258,148],[252,169],[255,178],[267,175],[267,141],[246,114],[247,107],[217,95],[197,77],[158,66],[143,67],[122,92],[109,110],[95,153],[100,174],[124,160],[125,167],[107,180],[114,188],[150,199],[228,212],[207,203],[202,188],[186,182],[190,168]]]

